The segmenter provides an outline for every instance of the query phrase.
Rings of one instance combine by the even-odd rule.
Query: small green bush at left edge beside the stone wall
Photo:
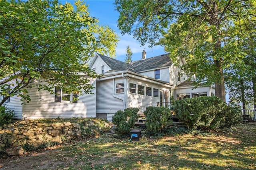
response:
[[[14,111],[6,106],[0,106],[0,125],[12,123]]]

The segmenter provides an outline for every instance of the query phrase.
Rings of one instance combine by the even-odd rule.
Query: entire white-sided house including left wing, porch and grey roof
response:
[[[10,97],[4,104],[14,110],[16,119],[97,116],[112,121],[116,111],[128,107],[139,107],[139,113],[143,113],[148,106],[168,106],[170,98],[215,94],[214,87],[194,88],[188,76],[174,66],[169,54],[146,58],[143,51],[141,60],[124,63],[96,53],[89,67],[102,74],[100,78],[90,78],[95,87],[93,94],[77,96],[55,88],[54,95],[44,90],[38,92],[34,87],[28,89],[28,104],[22,104],[18,96]],[[76,97],[79,100],[71,102]]]

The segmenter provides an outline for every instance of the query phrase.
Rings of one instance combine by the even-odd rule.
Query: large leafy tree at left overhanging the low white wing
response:
[[[98,25],[82,1],[58,4],[57,0],[0,1],[0,106],[10,96],[29,102],[27,88],[53,93],[55,86],[77,94],[93,88],[86,74],[92,53],[114,56],[117,35]],[[46,85],[46,82],[48,85]]]

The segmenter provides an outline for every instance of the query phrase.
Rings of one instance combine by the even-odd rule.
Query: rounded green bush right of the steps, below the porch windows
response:
[[[169,119],[171,113],[168,107],[146,107],[144,111],[147,119],[145,121],[145,126],[149,133],[161,133],[162,129],[172,123],[172,120]]]

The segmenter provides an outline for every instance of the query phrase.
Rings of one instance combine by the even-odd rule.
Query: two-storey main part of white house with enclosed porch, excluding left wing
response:
[[[116,111],[128,107],[139,107],[139,113],[143,113],[148,106],[168,106],[171,95],[176,98],[189,94],[192,98],[196,97],[194,93],[215,93],[209,87],[192,90],[194,86],[188,85],[188,76],[174,66],[169,54],[146,59],[143,51],[141,60],[124,63],[96,53],[89,67],[103,74],[96,80],[96,113],[109,121]],[[182,83],[186,86],[179,86]]]

